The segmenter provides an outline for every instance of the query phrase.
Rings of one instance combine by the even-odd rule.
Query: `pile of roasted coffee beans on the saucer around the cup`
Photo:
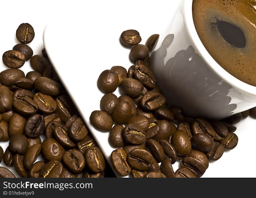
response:
[[[142,45],[138,31],[121,34],[122,43],[133,46],[130,58],[135,65],[128,72],[113,66],[99,75],[97,85],[105,95],[90,122],[99,131],[110,131],[109,144],[117,148],[111,161],[121,176],[201,177],[209,161],[237,145],[233,125],[249,114],[256,118],[256,108],[219,121],[190,118],[179,107],[167,107],[149,66],[149,52],[158,37],[154,34]],[[123,93],[119,98],[113,94],[117,87]],[[174,172],[176,161],[180,168]]]

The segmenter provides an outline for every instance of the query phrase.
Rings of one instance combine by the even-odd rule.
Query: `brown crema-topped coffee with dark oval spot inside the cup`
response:
[[[203,45],[237,79],[256,86],[256,0],[193,0]]]

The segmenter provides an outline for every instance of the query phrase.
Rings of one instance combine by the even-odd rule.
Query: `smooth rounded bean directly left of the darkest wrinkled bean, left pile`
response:
[[[15,134],[23,134],[25,123],[26,118],[17,113],[14,113],[8,125],[9,136],[11,137]]]

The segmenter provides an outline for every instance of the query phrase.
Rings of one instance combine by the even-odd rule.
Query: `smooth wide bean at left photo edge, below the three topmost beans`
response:
[[[0,83],[4,86],[11,86],[17,79],[25,78],[25,74],[20,69],[6,69],[0,73]]]

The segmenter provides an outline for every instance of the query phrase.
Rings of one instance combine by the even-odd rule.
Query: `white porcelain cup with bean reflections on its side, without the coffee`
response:
[[[192,1],[183,0],[173,24],[160,35],[150,69],[169,105],[191,117],[222,119],[256,106],[256,87],[225,71],[195,30]],[[173,42],[169,46],[174,34]],[[166,38],[166,39],[165,39]]]

